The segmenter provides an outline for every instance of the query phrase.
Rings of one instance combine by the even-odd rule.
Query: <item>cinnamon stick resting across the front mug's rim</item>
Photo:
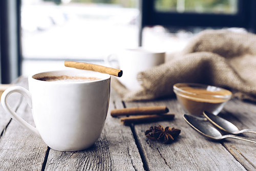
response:
[[[65,61],[64,65],[66,67],[81,69],[81,70],[90,70],[90,71],[97,71],[104,74],[110,74],[117,77],[121,77],[123,75],[122,70],[110,68],[110,67],[104,67],[100,65],[96,65],[93,63],[86,63],[86,62],[74,62],[74,61]]]

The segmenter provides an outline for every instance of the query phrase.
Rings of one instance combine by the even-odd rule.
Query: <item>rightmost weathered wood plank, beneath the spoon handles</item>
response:
[[[235,124],[238,129],[256,130],[256,111],[255,104],[233,99],[225,105],[219,116]],[[248,139],[256,140],[256,135],[244,133],[243,136]],[[223,142],[223,146],[236,158],[247,170],[256,170],[256,144],[239,140]]]

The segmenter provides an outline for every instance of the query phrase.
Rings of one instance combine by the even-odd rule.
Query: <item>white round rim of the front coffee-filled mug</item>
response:
[[[35,76],[38,75],[37,78],[40,78],[39,77],[39,74],[47,74],[47,73],[94,73],[93,77],[97,77],[95,75],[104,75],[104,77],[97,77],[97,78],[100,78],[100,79],[97,79],[97,80],[90,80],[90,81],[80,81],[80,82],[55,82],[55,81],[42,81],[42,80],[39,80],[39,79],[36,79]],[[55,75],[52,75],[52,76],[55,76]],[[63,75],[63,74],[62,74]],[[61,75],[57,75],[57,76],[61,76]],[[43,76],[41,76],[43,77]],[[101,82],[101,81],[104,81],[104,80],[108,80],[111,78],[111,75],[110,74],[105,74],[105,73],[100,73],[100,72],[96,72],[96,71],[89,71],[89,70],[80,70],[80,69],[66,69],[66,70],[52,70],[52,71],[45,71],[45,72],[40,72],[40,73],[36,73],[36,74],[32,74],[29,76],[29,79],[31,80],[34,80],[34,81],[41,81],[41,82],[47,82],[47,83],[64,83],[64,84],[84,84],[84,83],[92,83],[92,82]]]

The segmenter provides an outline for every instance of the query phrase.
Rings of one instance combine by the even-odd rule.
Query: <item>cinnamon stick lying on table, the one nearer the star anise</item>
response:
[[[131,116],[131,117],[121,118],[120,122],[123,124],[143,123],[143,122],[151,122],[151,121],[159,121],[159,120],[169,120],[169,119],[173,119],[174,116],[175,114]]]

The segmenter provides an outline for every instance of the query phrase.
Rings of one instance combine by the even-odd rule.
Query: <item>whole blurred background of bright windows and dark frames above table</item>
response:
[[[106,56],[127,47],[160,48],[173,53],[205,29],[254,32],[254,2],[3,0],[1,35],[14,28],[17,38],[11,33],[1,38],[1,80],[10,82],[17,75],[62,69],[65,60],[104,64]],[[14,18],[13,25],[5,22],[5,15]],[[8,27],[3,28],[5,25]],[[5,54],[7,40],[16,42],[16,56],[10,52],[14,50],[12,45]],[[5,61],[8,56],[13,57]]]

